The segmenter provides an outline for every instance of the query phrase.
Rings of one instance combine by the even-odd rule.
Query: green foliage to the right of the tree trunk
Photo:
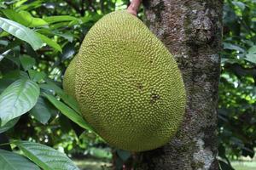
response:
[[[219,156],[253,158],[256,146],[256,1],[224,4],[224,51],[219,83]],[[223,162],[223,163],[224,163]],[[228,168],[229,167],[229,168]],[[223,169],[231,169],[228,166]]]

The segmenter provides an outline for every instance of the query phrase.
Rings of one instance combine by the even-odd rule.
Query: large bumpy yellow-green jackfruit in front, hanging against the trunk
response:
[[[158,148],[183,121],[186,96],[175,59],[126,11],[107,14],[90,29],[73,78],[84,118],[119,149]]]

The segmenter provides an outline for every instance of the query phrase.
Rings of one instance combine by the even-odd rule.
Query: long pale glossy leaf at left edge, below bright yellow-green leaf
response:
[[[19,23],[0,17],[0,27],[9,32],[11,35],[20,38],[21,40],[29,43],[34,50],[43,46],[42,40],[26,26],[22,26]]]

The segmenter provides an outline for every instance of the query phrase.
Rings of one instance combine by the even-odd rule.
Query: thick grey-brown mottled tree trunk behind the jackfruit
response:
[[[217,105],[223,0],[144,0],[146,23],[177,59],[187,91],[183,125],[138,169],[218,169]]]

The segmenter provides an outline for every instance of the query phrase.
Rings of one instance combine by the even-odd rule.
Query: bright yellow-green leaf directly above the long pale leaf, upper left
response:
[[[4,9],[3,14],[7,16],[10,20],[19,22],[23,26],[27,27],[37,27],[37,26],[47,26],[48,23],[39,18],[32,17],[32,15],[27,11],[16,12],[14,9]]]

